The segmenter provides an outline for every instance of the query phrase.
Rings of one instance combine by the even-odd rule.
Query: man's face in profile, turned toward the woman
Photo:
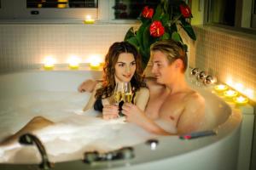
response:
[[[172,83],[175,80],[175,72],[174,63],[169,64],[168,59],[166,58],[166,54],[163,54],[160,51],[154,51],[152,53],[153,57],[153,68],[152,73],[156,78],[156,82],[160,84]]]

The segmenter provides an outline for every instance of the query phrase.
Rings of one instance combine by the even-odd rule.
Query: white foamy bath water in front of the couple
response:
[[[86,93],[37,91],[0,99],[0,132],[3,132],[0,141],[20,130],[34,116],[44,116],[55,122],[55,125],[35,132],[50,161],[55,162],[82,159],[84,151],[116,150],[154,137],[132,123],[125,123],[124,117],[105,121],[99,117],[99,112],[83,112],[89,98],[90,94]],[[31,159],[27,160],[27,156]],[[35,146],[18,142],[0,146],[0,162],[32,163],[40,160]]]

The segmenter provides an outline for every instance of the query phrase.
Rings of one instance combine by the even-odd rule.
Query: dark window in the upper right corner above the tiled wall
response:
[[[206,0],[205,23],[214,26],[253,30],[256,0]],[[255,23],[255,25],[254,25]]]

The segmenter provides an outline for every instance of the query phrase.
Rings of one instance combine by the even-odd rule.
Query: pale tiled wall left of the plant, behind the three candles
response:
[[[45,56],[66,63],[70,55],[88,62],[102,59],[109,46],[122,41],[131,25],[0,25],[0,71],[36,68]]]

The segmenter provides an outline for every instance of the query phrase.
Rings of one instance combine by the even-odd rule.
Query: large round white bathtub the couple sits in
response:
[[[55,163],[53,169],[236,169],[241,126],[240,111],[231,109],[210,90],[196,88],[206,99],[205,129],[214,128],[217,135],[197,139],[180,139],[178,136],[155,136],[122,121],[111,122],[112,124],[102,120],[95,121],[94,115],[98,113],[89,111],[89,115],[84,115],[82,112],[90,94],[80,94],[77,88],[85,79],[99,78],[101,74],[101,71],[21,71],[2,74],[0,76],[0,106],[2,108],[0,111],[0,141],[19,130],[33,116],[44,116],[53,122],[61,120],[67,122],[68,120],[79,124],[71,132],[72,135],[66,135],[67,131],[72,131],[73,125],[70,125],[58,134],[58,138],[50,141],[50,144],[46,142],[45,149],[48,153],[55,147],[61,147],[55,156],[49,156],[49,161]],[[92,117],[93,120],[90,121],[90,118],[89,121],[85,120],[86,116]],[[115,133],[113,137],[119,141],[119,144],[116,140],[108,139],[111,138],[109,137],[111,133],[102,132],[105,136],[101,139],[103,135],[101,131],[95,131],[95,135],[100,138],[96,140],[98,145],[90,148],[91,144],[86,145],[82,140],[83,142],[79,144],[85,144],[86,147],[80,146],[79,151],[63,154],[61,152],[63,150],[76,150],[78,147],[77,143],[74,143],[77,141],[65,138],[71,136],[71,138],[79,139],[77,129],[86,132],[82,119],[84,119],[84,124],[95,121],[98,123],[97,126],[101,126],[101,123],[106,123],[106,127],[111,127],[117,133],[119,128],[122,129],[121,133],[118,135]],[[130,131],[127,130],[129,126],[132,128]],[[80,134],[84,135],[84,133]],[[61,135],[63,136],[60,137]],[[159,143],[152,147],[147,144],[148,139],[157,139]],[[65,140],[65,142],[61,143],[60,140]],[[44,143],[44,139],[42,141]],[[105,147],[104,144],[108,146]],[[114,146],[111,147],[111,144]],[[133,158],[86,163],[83,161],[84,154],[81,154],[97,149],[102,152],[118,150],[124,146],[133,148]],[[75,156],[76,153],[80,155]],[[41,162],[35,146],[19,145],[14,150],[0,147],[0,155],[2,157],[0,169],[38,169],[38,164]],[[7,158],[4,160],[3,157]]]

